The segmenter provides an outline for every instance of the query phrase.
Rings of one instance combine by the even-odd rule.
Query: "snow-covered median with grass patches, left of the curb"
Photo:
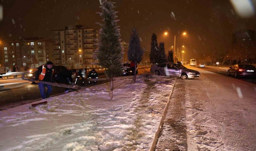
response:
[[[107,83],[0,111],[0,150],[149,150],[175,79],[114,81],[113,100]]]

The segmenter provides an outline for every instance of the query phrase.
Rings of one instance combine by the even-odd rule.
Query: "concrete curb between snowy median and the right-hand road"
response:
[[[165,108],[164,108],[164,112],[163,112],[161,121],[160,121],[160,123],[159,123],[158,129],[157,129],[157,131],[156,131],[155,138],[154,138],[154,140],[153,140],[153,142],[152,142],[152,145],[151,145],[151,147],[150,147],[150,149],[149,149],[150,151],[154,151],[154,150],[156,149],[156,143],[157,143],[158,137],[159,137],[159,135],[160,135],[161,128],[162,128],[162,126],[163,126],[163,123],[164,123],[164,119],[165,119],[167,110],[168,110],[168,108],[169,108],[171,96],[172,96],[172,93],[173,93],[173,90],[174,90],[176,81],[177,81],[177,78],[175,79],[174,84],[173,84],[173,87],[172,87],[172,89],[171,89],[171,93],[170,93],[170,95],[169,95],[168,102],[167,102],[167,104],[166,104],[166,106],[165,106]]]

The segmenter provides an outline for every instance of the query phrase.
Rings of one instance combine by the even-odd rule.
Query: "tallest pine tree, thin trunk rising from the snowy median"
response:
[[[104,23],[98,23],[101,26],[99,30],[100,41],[99,49],[95,53],[95,57],[99,61],[99,65],[105,68],[105,74],[110,79],[110,99],[113,98],[113,77],[121,75],[124,69],[122,64],[122,47],[119,43],[120,30],[117,25],[117,15],[114,11],[114,3],[102,1],[100,6],[101,12],[98,14],[103,18]]]

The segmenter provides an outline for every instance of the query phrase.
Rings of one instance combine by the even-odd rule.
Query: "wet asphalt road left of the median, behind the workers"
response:
[[[150,69],[150,67],[149,67]],[[138,69],[138,74],[149,72],[149,69]],[[99,75],[99,78],[105,78],[105,75]],[[106,83],[108,81],[98,81],[97,84]],[[81,85],[81,80],[78,82],[81,87],[90,87],[86,82],[85,85]],[[64,93],[65,88],[53,86],[53,92],[51,96],[60,95]],[[50,96],[50,97],[51,97]],[[31,103],[41,99],[39,88],[37,84],[16,79],[1,79],[0,80],[0,110],[12,108],[15,106]]]

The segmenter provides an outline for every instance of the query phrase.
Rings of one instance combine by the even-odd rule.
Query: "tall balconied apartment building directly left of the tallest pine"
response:
[[[97,67],[93,53],[98,49],[99,31],[93,28],[76,28],[53,30],[52,36],[54,50],[51,60],[54,63],[65,65],[69,68]]]

